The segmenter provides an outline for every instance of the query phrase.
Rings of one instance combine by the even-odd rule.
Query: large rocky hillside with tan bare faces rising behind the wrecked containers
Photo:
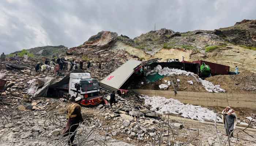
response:
[[[166,28],[150,31],[134,39],[116,32],[102,31],[83,45],[67,51],[69,55],[86,55],[102,50],[125,50],[140,59],[185,57],[238,66],[241,72],[256,73],[256,20],[242,20],[234,26],[216,30],[174,32]]]

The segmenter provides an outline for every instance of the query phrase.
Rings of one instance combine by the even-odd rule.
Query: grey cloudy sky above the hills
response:
[[[0,52],[75,47],[102,30],[134,38],[156,28],[185,32],[256,19],[255,0],[1,0]]]

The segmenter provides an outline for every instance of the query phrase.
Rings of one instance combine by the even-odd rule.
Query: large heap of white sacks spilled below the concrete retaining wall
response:
[[[184,118],[190,118],[195,120],[215,120],[215,112],[203,108],[201,106],[195,106],[192,104],[184,104],[176,99],[166,99],[160,96],[144,96],[145,105],[150,107],[151,111],[155,111],[159,114],[177,114]],[[217,122],[222,122],[222,119],[217,116]]]

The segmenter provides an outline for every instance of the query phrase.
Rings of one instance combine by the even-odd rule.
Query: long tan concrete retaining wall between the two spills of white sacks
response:
[[[134,92],[148,96],[162,96],[178,99],[182,103],[220,107],[239,107],[256,109],[256,95],[239,93],[208,93],[178,91],[176,96],[173,91],[133,89]]]

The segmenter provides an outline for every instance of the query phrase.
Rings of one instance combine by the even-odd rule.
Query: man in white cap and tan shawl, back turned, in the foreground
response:
[[[71,98],[72,99],[72,98]],[[63,136],[69,136],[68,145],[73,145],[75,139],[76,129],[79,127],[79,124],[83,122],[83,117],[81,114],[81,106],[79,105],[81,97],[76,97],[75,103],[71,103],[68,106],[67,110],[67,125],[63,131]],[[73,101],[74,102],[74,101]]]

